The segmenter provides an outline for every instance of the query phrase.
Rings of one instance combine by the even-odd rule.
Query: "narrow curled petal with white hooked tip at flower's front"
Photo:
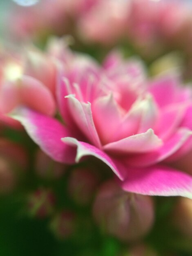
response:
[[[95,146],[92,146],[91,144],[85,143],[83,141],[78,141],[77,139],[71,137],[62,138],[62,141],[69,145],[77,146],[76,162],[79,162],[79,160],[84,156],[92,155],[107,164],[112,169],[112,171],[114,171],[114,173],[121,180],[123,180],[125,174],[121,173],[121,171],[118,170],[114,161],[102,150],[96,148]]]

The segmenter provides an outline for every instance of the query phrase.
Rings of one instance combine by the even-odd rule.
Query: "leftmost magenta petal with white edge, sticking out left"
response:
[[[74,163],[76,151],[60,140],[71,133],[59,121],[27,108],[17,109],[11,117],[21,122],[33,141],[52,159],[66,164]]]

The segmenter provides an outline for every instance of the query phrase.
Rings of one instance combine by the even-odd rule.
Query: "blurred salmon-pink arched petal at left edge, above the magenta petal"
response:
[[[5,82],[0,91],[0,102],[0,108],[5,113],[18,105],[25,105],[45,115],[53,115],[56,110],[54,97],[49,89],[30,76]]]

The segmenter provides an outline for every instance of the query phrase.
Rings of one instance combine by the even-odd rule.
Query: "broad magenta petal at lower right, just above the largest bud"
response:
[[[180,195],[192,199],[192,176],[165,166],[130,169],[121,187],[142,195]]]

